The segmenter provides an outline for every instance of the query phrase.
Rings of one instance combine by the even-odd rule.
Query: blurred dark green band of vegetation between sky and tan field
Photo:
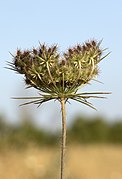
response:
[[[0,148],[13,147],[23,149],[30,144],[42,147],[56,146],[60,140],[60,132],[52,134],[37,129],[32,122],[26,120],[19,126],[5,123],[0,118]],[[68,143],[112,143],[122,144],[122,120],[108,123],[102,117],[76,117],[68,128]]]

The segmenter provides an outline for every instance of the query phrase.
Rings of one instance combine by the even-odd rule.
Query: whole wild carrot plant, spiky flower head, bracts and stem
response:
[[[64,156],[66,147],[66,110],[69,99],[78,101],[96,109],[89,98],[105,98],[99,96],[107,92],[78,92],[84,85],[98,75],[98,63],[105,49],[100,48],[101,42],[91,40],[69,48],[60,55],[57,45],[47,47],[40,44],[32,50],[17,50],[13,55],[13,62],[8,62],[9,69],[24,75],[27,88],[38,90],[37,97],[21,97],[16,99],[30,100],[22,105],[37,104],[38,107],[47,101],[58,100],[62,111],[62,143],[60,179],[64,179]]]

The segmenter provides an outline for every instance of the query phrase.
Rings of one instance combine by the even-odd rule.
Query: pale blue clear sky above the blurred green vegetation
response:
[[[67,120],[76,114],[106,116],[108,120],[122,118],[122,1],[121,0],[11,0],[0,1],[0,115],[16,122],[20,102],[13,96],[35,95],[25,90],[21,75],[6,70],[11,61],[9,52],[17,48],[31,49],[40,43],[58,44],[59,50],[90,39],[101,40],[102,48],[111,54],[100,65],[98,80],[82,91],[110,91],[107,100],[93,99],[98,111],[76,102],[67,105]],[[26,107],[25,107],[26,108]],[[31,106],[28,113],[44,126],[58,126],[60,105],[51,102],[41,108]],[[54,119],[55,118],[55,119]]]

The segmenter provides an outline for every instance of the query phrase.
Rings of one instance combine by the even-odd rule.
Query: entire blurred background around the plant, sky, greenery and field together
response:
[[[67,104],[67,179],[122,178],[122,2],[0,1],[0,178],[58,178],[61,109],[58,102],[19,107],[12,97],[36,96],[23,76],[5,69],[17,48],[58,44],[60,53],[77,43],[103,39],[111,54],[98,80],[81,91],[112,92],[93,99],[98,111]],[[50,149],[50,150],[49,150]],[[73,161],[73,162],[72,162]],[[8,172],[6,173],[6,169]]]

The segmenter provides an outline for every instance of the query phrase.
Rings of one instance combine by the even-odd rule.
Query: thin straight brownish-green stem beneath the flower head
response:
[[[62,134],[61,134],[61,173],[60,179],[64,179],[64,159],[65,159],[65,147],[66,147],[66,110],[65,99],[61,98],[61,111],[62,111]]]

